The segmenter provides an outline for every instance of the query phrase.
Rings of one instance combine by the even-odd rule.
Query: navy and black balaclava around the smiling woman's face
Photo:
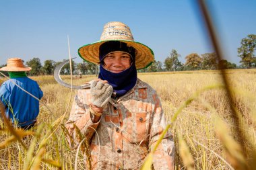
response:
[[[127,46],[125,42],[108,41],[100,45],[100,73],[98,78],[108,81],[108,84],[113,86],[117,97],[125,95],[127,91],[132,89],[137,81],[137,70],[135,67],[135,48]],[[112,73],[103,68],[102,61],[104,56],[110,52],[123,51],[131,55],[131,66],[121,73]]]

